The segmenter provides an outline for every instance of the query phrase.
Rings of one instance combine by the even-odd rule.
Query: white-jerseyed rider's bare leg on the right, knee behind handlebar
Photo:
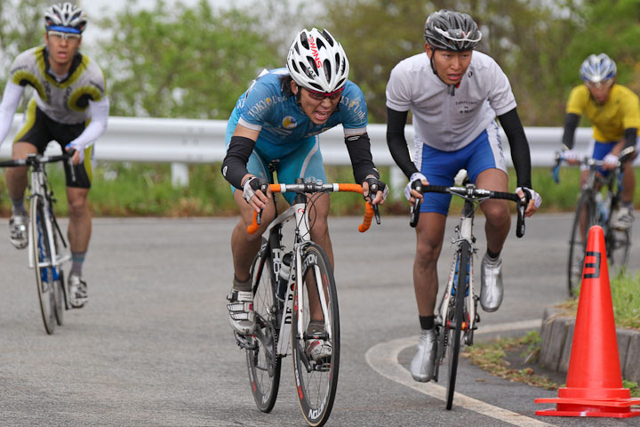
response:
[[[508,191],[507,173],[500,169],[486,169],[477,176],[476,187],[506,192]],[[485,200],[480,207],[486,217],[484,231],[487,238],[487,248],[492,254],[500,254],[511,227],[511,215],[508,212],[507,200]]]

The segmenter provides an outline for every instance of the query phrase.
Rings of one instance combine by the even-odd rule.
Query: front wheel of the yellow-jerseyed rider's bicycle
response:
[[[580,230],[580,215],[583,209],[586,215],[584,220],[586,224],[584,236],[582,236],[582,230]],[[596,200],[593,192],[590,190],[584,191],[580,195],[578,205],[576,206],[571,238],[569,239],[569,259],[567,260],[567,286],[569,296],[576,296],[580,288],[582,269],[584,267],[584,253],[587,246],[587,233],[593,225],[596,225],[596,221]]]

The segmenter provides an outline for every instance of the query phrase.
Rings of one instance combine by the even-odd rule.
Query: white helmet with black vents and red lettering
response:
[[[347,55],[326,29],[300,31],[289,49],[287,68],[296,85],[312,91],[332,93],[347,83]]]

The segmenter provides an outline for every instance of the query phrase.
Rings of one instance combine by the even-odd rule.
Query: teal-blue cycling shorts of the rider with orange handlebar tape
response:
[[[228,147],[231,142],[231,136],[236,131],[239,117],[237,110],[234,109],[227,124],[226,147]],[[265,132],[264,128],[262,132]],[[258,136],[246,167],[249,173],[268,180],[268,164],[274,160],[278,160],[276,165],[277,182],[292,184],[296,178],[303,178],[305,181],[320,180],[326,182],[323,158],[320,152],[320,141],[317,135],[297,141],[294,144],[287,143],[283,145],[276,145]],[[235,189],[234,186],[231,186],[232,192]],[[240,190],[242,191],[242,189]],[[283,193],[283,196],[291,205],[295,193]]]

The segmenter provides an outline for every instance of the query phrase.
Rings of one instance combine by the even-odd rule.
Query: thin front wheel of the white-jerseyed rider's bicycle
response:
[[[467,291],[468,262],[471,254],[471,246],[467,241],[460,242],[460,262],[458,263],[458,283],[456,292],[450,300],[452,307],[449,309],[449,321],[446,322],[446,331],[449,334],[449,370],[447,372],[446,408],[453,406],[453,394],[455,392],[456,375],[458,375],[458,361],[460,359],[460,343],[462,342],[462,323],[464,321],[464,300]],[[453,328],[451,327],[453,325]]]

